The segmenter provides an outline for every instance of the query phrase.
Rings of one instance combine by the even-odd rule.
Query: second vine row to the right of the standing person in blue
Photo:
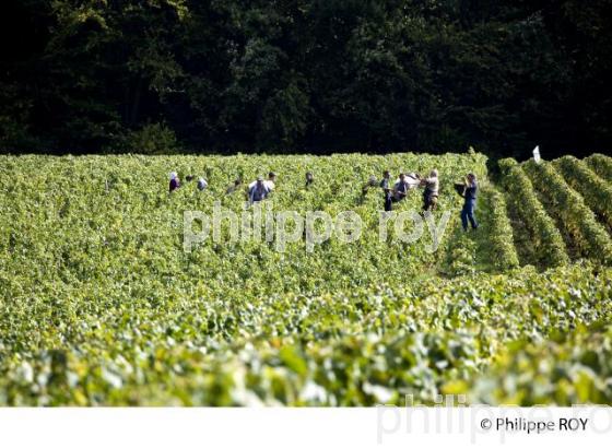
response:
[[[538,262],[543,266],[563,266],[569,262],[563,237],[554,221],[536,197],[531,181],[514,158],[499,161],[503,184],[513,208],[530,231]]]

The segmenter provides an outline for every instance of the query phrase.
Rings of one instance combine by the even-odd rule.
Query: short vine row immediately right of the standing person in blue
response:
[[[519,260],[504,194],[493,188],[485,188],[482,190],[481,202],[489,210],[486,237],[491,264],[499,271],[517,268]]]

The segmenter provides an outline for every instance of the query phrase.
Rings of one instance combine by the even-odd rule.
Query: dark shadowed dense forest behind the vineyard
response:
[[[612,0],[4,0],[1,152],[612,148]]]

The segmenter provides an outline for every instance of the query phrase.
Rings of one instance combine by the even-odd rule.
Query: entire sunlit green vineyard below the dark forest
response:
[[[472,151],[0,156],[0,405],[612,403],[612,158],[491,166]],[[381,240],[382,193],[362,186],[433,168],[435,223],[450,212],[437,250],[429,232]],[[209,189],[168,194],[170,170]],[[227,186],[270,170],[275,211],[353,211],[358,240],[184,250],[185,211],[239,215]],[[452,184],[470,172],[480,227],[463,232]],[[395,211],[421,207],[415,190]]]

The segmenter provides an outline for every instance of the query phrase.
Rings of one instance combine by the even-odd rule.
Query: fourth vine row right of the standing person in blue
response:
[[[555,162],[565,179],[578,191],[587,205],[612,227],[612,185],[602,180],[578,158],[567,155]]]

